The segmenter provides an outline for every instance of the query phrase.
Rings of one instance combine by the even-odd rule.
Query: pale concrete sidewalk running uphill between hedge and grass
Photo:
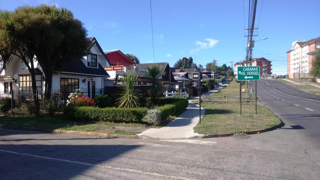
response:
[[[227,83],[227,82],[226,82]],[[211,95],[218,92],[223,86],[227,84],[217,86],[214,90],[205,93],[204,95]],[[199,122],[199,106],[192,101],[199,99],[189,99],[187,110],[183,112],[179,117],[172,120],[169,124],[162,128],[151,128],[138,134],[143,139],[188,139],[197,138],[198,133],[195,133],[193,127]],[[204,109],[201,108],[201,116],[204,115]]]

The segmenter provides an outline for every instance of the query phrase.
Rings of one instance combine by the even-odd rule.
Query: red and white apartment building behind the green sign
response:
[[[255,58],[255,59],[252,59],[252,66],[260,66],[260,75],[263,75],[263,74],[271,75],[272,74],[271,73],[271,70],[272,70],[271,62],[272,61],[269,61],[264,57]],[[235,63],[235,68],[236,68],[235,74],[237,74],[237,69],[238,69],[237,67],[238,66],[247,66],[247,63],[246,63],[246,61],[236,62]],[[249,63],[248,63],[248,66],[250,66]]]

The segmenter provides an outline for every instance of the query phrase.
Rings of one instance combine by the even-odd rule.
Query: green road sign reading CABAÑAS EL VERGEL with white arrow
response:
[[[238,81],[260,80],[260,66],[238,66]]]

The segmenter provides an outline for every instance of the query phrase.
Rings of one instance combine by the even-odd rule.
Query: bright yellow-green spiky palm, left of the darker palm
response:
[[[120,92],[116,93],[118,95],[116,105],[120,108],[135,108],[140,104],[140,98],[142,97],[139,94],[138,90],[135,88],[137,76],[127,74],[124,78],[121,79],[123,86],[120,86]]]

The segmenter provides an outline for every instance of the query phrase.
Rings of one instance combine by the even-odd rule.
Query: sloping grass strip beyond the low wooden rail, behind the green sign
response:
[[[224,86],[219,92],[216,92],[212,94],[211,96],[208,96],[212,99],[228,99],[228,100],[238,100],[240,99],[240,83],[237,83],[235,80],[231,81],[227,86]],[[254,87],[253,87],[254,88]],[[247,89],[247,84],[244,84],[241,86],[241,89],[245,89],[245,93],[242,93],[242,99],[250,99],[249,98],[249,89]],[[252,93],[252,98],[254,99],[254,94]]]

